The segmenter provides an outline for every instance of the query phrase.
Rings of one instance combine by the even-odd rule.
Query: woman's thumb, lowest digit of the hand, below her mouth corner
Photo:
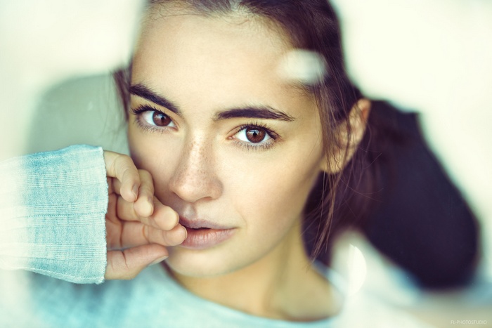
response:
[[[157,244],[147,244],[124,251],[108,251],[106,280],[133,279],[150,264],[163,261],[169,256],[167,249]]]

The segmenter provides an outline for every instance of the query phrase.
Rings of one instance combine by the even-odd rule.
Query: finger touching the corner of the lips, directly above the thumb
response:
[[[176,246],[187,237],[186,228],[176,225],[169,231],[164,231],[144,225],[139,222],[125,222],[122,228],[122,247],[136,247],[144,244],[160,244]]]

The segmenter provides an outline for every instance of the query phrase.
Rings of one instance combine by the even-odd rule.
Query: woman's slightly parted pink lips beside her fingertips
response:
[[[180,245],[187,249],[209,249],[225,242],[234,235],[235,228],[207,220],[189,220],[179,218],[179,223],[186,228],[188,237]]]

